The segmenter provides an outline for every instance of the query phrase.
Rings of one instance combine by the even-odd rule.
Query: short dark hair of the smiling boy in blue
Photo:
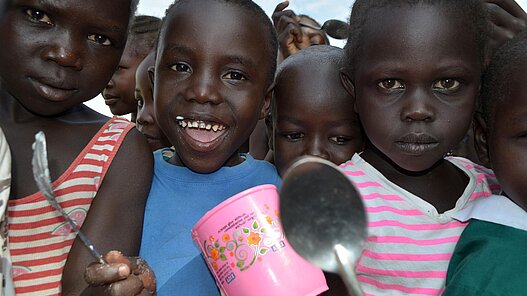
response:
[[[184,2],[192,2],[193,0],[176,0],[172,3],[165,11],[165,17],[163,18],[160,34],[163,33],[166,27],[166,18],[175,10],[175,8]],[[265,11],[256,3],[251,0],[215,0],[218,2],[224,2],[227,4],[235,5],[246,9],[251,13],[261,25],[265,27],[267,32],[267,40],[260,40],[262,44],[267,45],[269,52],[268,62],[270,63],[270,72],[267,78],[266,85],[269,86],[274,81],[274,73],[276,71],[276,58],[278,55],[278,37],[276,36],[276,30],[271,22],[271,19],[267,16]]]

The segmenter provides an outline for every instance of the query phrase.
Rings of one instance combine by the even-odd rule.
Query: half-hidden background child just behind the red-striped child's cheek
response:
[[[154,49],[160,24],[161,20],[154,16],[139,15],[134,18],[119,66],[102,93],[112,114],[132,113],[131,118],[135,122],[135,72],[139,63]]]

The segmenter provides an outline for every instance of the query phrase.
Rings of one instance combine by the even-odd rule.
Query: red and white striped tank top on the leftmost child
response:
[[[79,226],[133,126],[110,119],[53,182],[57,201]],[[37,192],[9,201],[8,229],[16,295],[60,295],[62,270],[76,237],[65,219]]]

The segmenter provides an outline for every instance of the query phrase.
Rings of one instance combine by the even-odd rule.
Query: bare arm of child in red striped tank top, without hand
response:
[[[152,152],[142,135],[132,129],[110,165],[82,226],[99,252],[119,250],[128,256],[138,255],[152,174]],[[62,295],[81,295],[88,287],[84,281],[85,268],[93,261],[77,238],[63,271]]]

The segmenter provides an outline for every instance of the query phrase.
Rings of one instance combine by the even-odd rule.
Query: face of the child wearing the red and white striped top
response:
[[[2,88],[55,115],[95,97],[126,41],[130,0],[14,0],[0,25]]]

